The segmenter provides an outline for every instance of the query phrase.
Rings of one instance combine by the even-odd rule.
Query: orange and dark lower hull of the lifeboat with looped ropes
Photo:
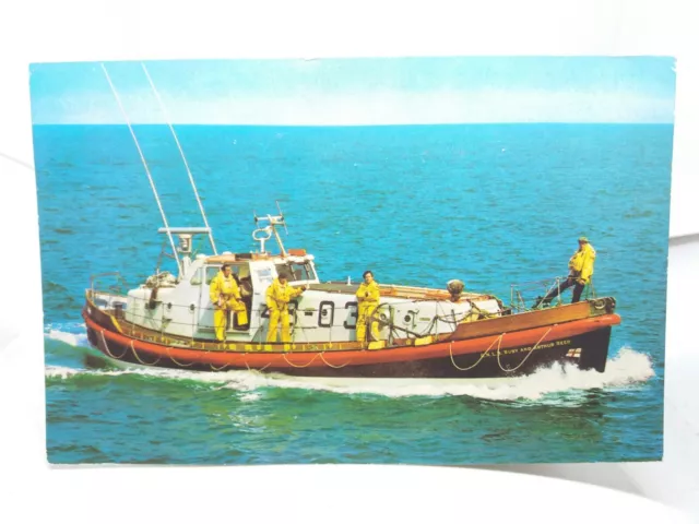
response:
[[[554,362],[604,372],[612,325],[605,314],[564,324],[462,340],[442,340],[377,350],[294,350],[265,345],[254,350],[174,347],[129,337],[83,312],[90,343],[123,362],[200,371],[258,370],[308,378],[490,379],[530,374]],[[266,350],[265,350],[266,349]]]

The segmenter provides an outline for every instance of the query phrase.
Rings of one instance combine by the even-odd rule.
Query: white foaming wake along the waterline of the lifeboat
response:
[[[187,371],[164,368],[129,367],[126,369],[76,370],[49,366],[46,377],[70,380],[81,374],[129,376],[137,374],[158,380],[193,381],[208,383],[213,389],[229,389],[241,393],[241,400],[257,401],[256,390],[264,388],[303,389],[328,391],[340,394],[372,394],[388,397],[406,396],[470,396],[487,401],[524,401],[524,403],[558,404],[584,400],[581,393],[591,390],[604,390],[632,386],[643,383],[655,376],[650,357],[623,348],[609,359],[606,371],[580,370],[573,365],[552,366],[520,378],[501,381],[382,381],[381,379],[324,379],[295,378],[283,374],[266,374],[259,371]],[[561,400],[561,394],[566,397]]]

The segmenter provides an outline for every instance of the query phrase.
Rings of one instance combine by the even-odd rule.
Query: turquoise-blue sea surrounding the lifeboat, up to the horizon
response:
[[[167,127],[135,128],[171,226],[200,226]],[[162,221],[128,128],[37,126],[47,446],[54,463],[642,461],[662,456],[672,126],[177,127],[220,251],[252,212],[322,279],[467,288],[565,274],[579,235],[618,302],[604,374],[509,385],[309,386],[253,372],[112,368],[81,322],[92,274],[135,285]],[[566,298],[569,299],[567,294]]]

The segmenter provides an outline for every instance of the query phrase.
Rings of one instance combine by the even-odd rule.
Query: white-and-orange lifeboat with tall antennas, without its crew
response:
[[[103,70],[118,99],[104,66]],[[282,227],[286,230],[286,221],[279,203],[279,214],[254,217],[252,238],[259,249],[218,253],[171,126],[204,226],[170,227],[126,114],[125,121],[141,153],[164,222],[158,231],[169,240],[165,246],[171,248],[167,254],[176,261],[177,271],[158,267],[135,286],[127,285],[119,273],[91,277],[82,317],[91,345],[109,359],[329,380],[500,380],[557,362],[604,372],[612,327],[621,321],[615,312],[616,300],[592,291],[576,303],[562,303],[559,295],[555,303],[534,308],[536,297],[528,293],[545,293],[560,278],[511,286],[508,305],[491,294],[465,291],[458,279],[443,289],[381,282],[379,305],[366,318],[378,335],[357,340],[358,284],[350,278],[322,282],[312,254],[305,249],[286,250],[280,235]],[[209,239],[209,253],[193,248],[200,237]],[[269,242],[276,242],[274,252],[268,249]],[[233,270],[248,322],[237,325],[237,317],[229,314],[220,341],[209,287],[223,264]],[[305,291],[289,302],[289,342],[268,343],[265,291],[282,271],[291,275],[293,287],[303,286]]]

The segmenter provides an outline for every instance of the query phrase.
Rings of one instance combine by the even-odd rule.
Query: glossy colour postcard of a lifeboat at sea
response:
[[[674,64],[32,64],[49,462],[661,460]]]

